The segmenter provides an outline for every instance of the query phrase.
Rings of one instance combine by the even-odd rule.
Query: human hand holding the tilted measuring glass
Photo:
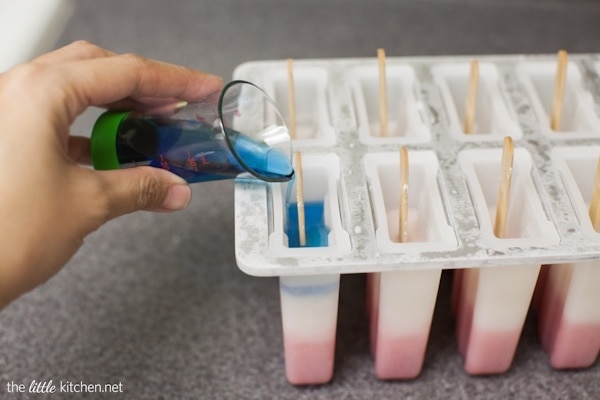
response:
[[[89,139],[70,136],[89,106],[143,109],[197,101],[221,78],[118,55],[87,42],[0,74],[0,309],[46,281],[105,222],[187,206],[187,183],[138,167],[94,171]]]

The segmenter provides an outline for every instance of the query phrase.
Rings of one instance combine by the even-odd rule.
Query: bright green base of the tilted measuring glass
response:
[[[106,111],[96,120],[90,140],[90,156],[95,169],[120,168],[116,149],[117,132],[129,114],[129,111]]]

